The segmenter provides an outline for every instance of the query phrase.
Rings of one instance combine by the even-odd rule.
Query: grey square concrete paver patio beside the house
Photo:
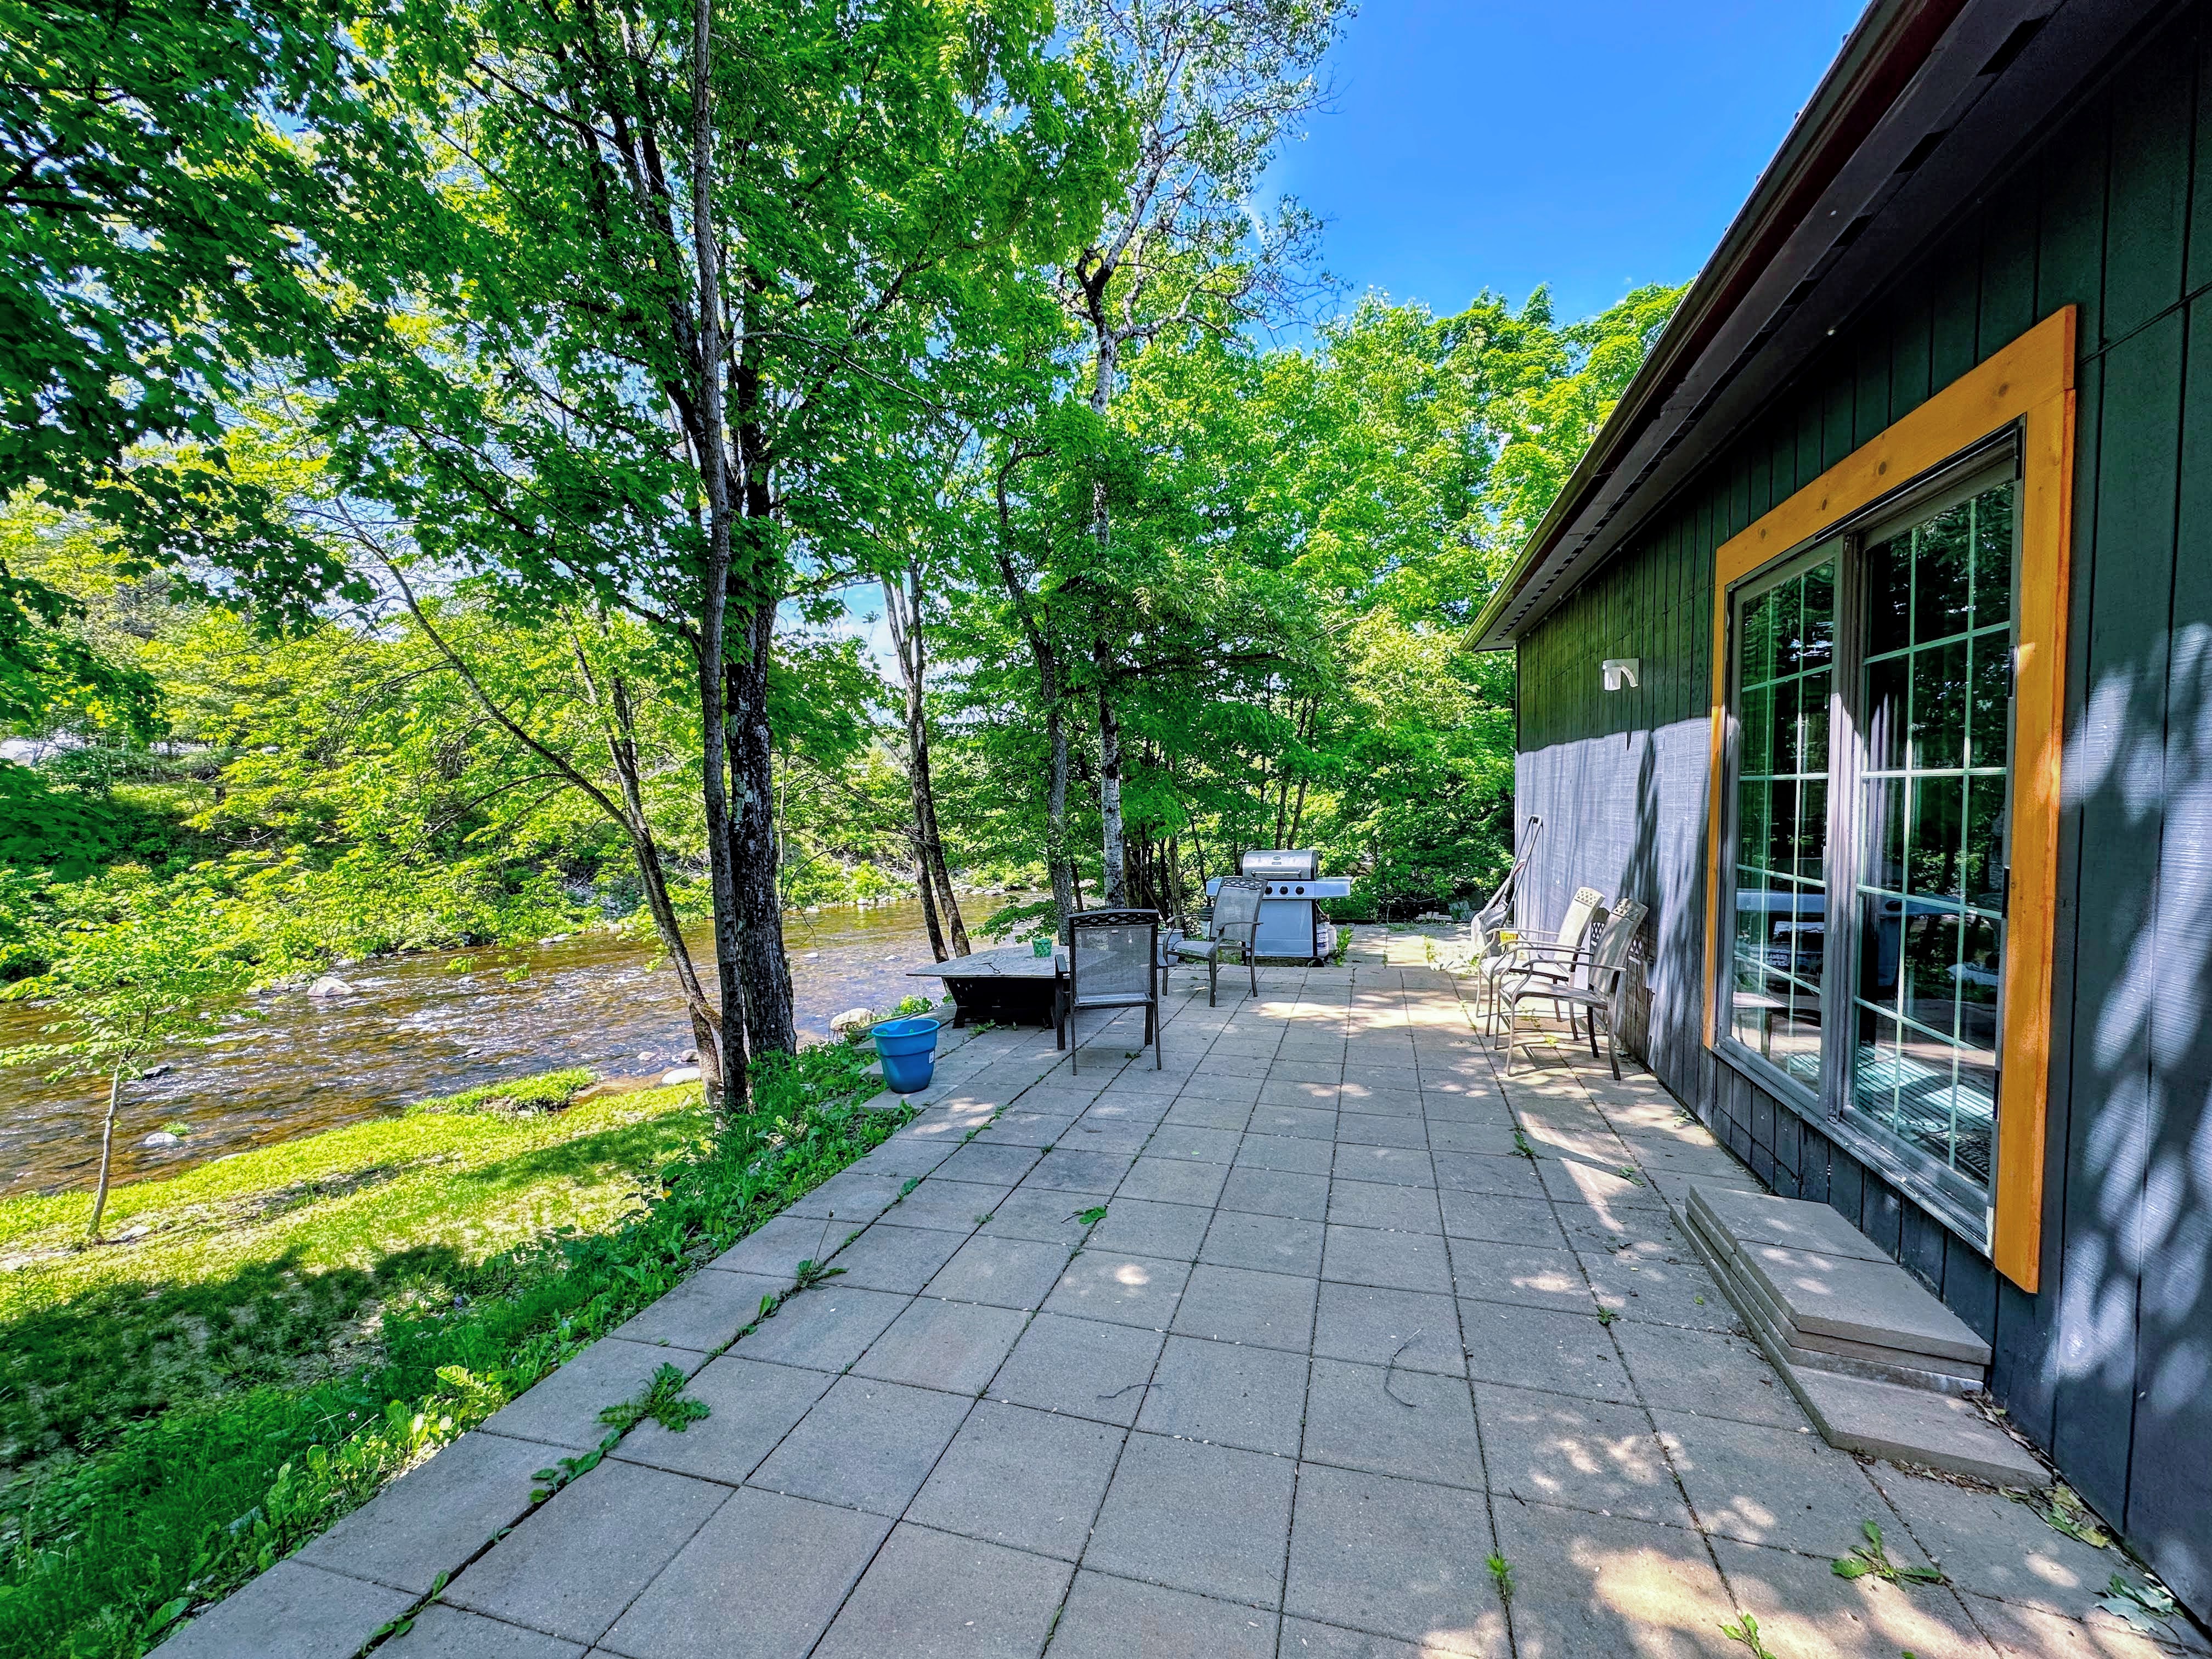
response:
[[[1648,1075],[1500,1077],[1416,933],[1237,991],[1177,975],[1159,1071],[1091,1020],[1082,1075],[971,1035],[889,1144],[164,1659],[343,1659],[447,1571],[378,1652],[1613,1659],[1743,1655],[1741,1613],[1778,1659],[2212,1652],[2084,1617],[2117,1553],[1812,1433],[1670,1208],[1756,1181]],[[526,1513],[661,1363],[712,1416]],[[1955,1588],[1834,1577],[1865,1520]]]

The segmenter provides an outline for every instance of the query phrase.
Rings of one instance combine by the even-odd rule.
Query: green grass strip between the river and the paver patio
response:
[[[144,1652],[885,1139],[867,1053],[0,1206],[0,1659]]]

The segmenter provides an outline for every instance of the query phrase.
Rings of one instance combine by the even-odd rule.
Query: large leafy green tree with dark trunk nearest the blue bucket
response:
[[[471,281],[341,376],[334,453],[429,562],[690,653],[721,1004],[754,1053],[794,1042],[776,615],[869,568],[947,345],[1095,217],[1113,122],[1051,31],[1026,0],[522,0],[383,38]]]

